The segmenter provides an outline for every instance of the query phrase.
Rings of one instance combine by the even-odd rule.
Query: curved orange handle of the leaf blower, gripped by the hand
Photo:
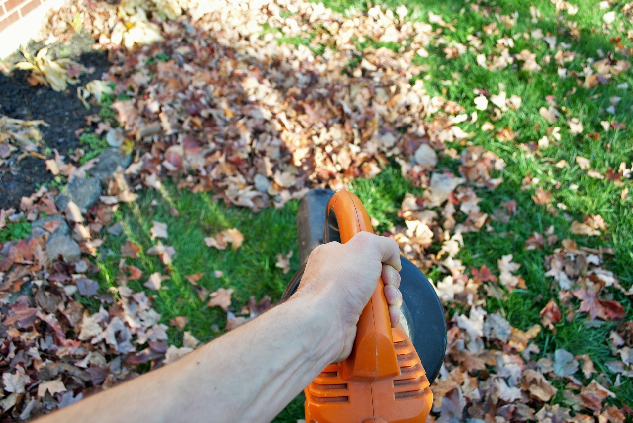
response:
[[[341,243],[348,242],[361,231],[373,233],[365,206],[356,195],[339,191],[327,205],[327,226],[337,231]],[[342,362],[342,377],[353,381],[376,381],[399,374],[396,350],[391,333],[391,320],[379,278],[372,298],[356,324],[356,338],[349,357]]]

